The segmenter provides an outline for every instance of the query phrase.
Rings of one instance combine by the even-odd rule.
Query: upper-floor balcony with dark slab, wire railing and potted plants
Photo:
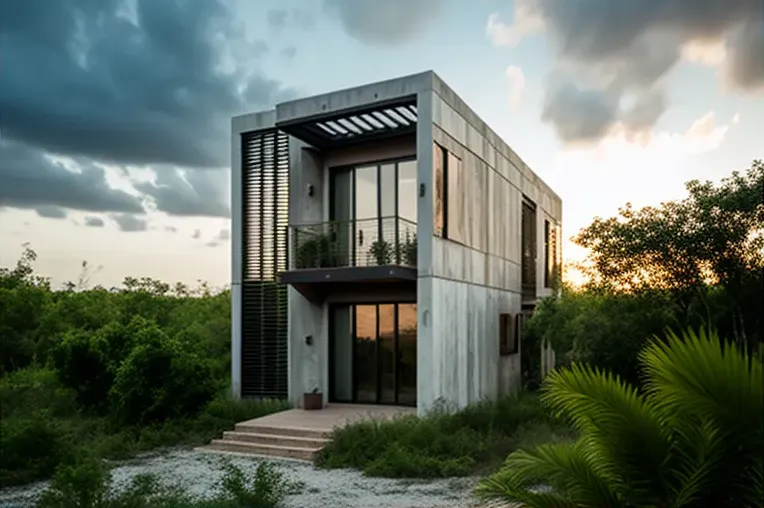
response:
[[[415,295],[416,227],[397,216],[291,226],[281,282],[314,301]]]

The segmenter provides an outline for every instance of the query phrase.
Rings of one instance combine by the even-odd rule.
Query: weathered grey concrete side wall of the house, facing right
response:
[[[562,217],[560,198],[517,154],[434,74],[432,85],[431,139],[461,160],[463,236],[456,243],[430,233],[427,248],[420,243],[420,414],[439,402],[463,407],[520,387],[520,353],[499,354],[499,316],[521,311],[523,195],[537,205],[539,296],[551,291],[543,287],[544,218],[561,224]],[[425,122],[423,109],[420,104],[420,123]],[[425,167],[425,142],[418,142],[420,178],[429,172],[432,189],[433,166]],[[432,154],[431,146],[427,153]],[[432,203],[429,193],[420,217],[422,207],[432,215]],[[424,238],[419,235],[420,242]],[[544,360],[551,360],[548,353]]]

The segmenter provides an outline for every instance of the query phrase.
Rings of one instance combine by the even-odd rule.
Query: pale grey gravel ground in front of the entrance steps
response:
[[[251,468],[262,459],[237,455],[210,454],[193,450],[172,451],[145,456],[118,464],[112,470],[114,485],[119,488],[133,476],[155,474],[167,484],[181,484],[200,496],[215,493],[222,476],[220,466],[226,461]],[[309,464],[272,461],[288,478],[305,485],[300,494],[287,498],[288,508],[468,508],[476,506],[471,491],[474,478],[439,480],[390,480],[367,478],[351,470],[322,470]],[[0,507],[34,506],[35,499],[47,484],[0,490]]]

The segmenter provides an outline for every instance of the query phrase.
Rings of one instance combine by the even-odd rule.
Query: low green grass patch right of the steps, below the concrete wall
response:
[[[483,402],[455,413],[424,418],[362,421],[337,429],[318,464],[351,467],[370,476],[466,476],[491,467],[531,437],[565,436],[567,429],[544,412],[538,398],[523,394]]]

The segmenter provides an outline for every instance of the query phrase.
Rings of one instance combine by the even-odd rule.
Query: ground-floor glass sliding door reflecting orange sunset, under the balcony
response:
[[[330,401],[416,406],[416,304],[336,305]]]

